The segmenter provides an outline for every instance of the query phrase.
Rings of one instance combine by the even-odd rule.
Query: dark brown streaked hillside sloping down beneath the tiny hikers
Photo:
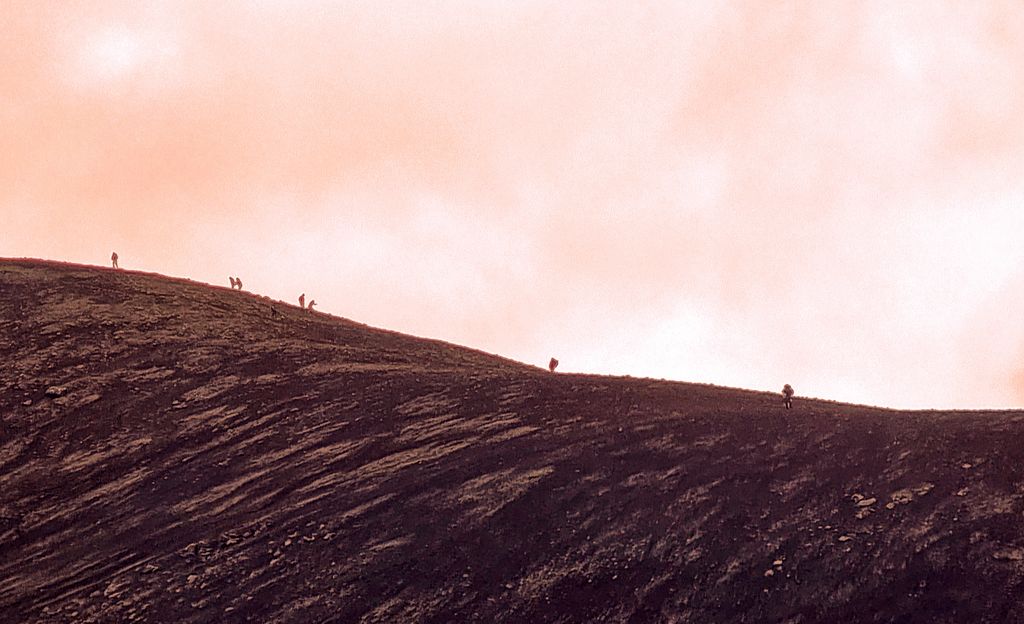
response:
[[[1022,412],[787,412],[40,261],[0,261],[0,622],[1024,622]]]

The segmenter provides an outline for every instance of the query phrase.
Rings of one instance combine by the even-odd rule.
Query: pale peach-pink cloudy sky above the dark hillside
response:
[[[1015,1],[6,0],[0,256],[559,371],[1024,406]]]

